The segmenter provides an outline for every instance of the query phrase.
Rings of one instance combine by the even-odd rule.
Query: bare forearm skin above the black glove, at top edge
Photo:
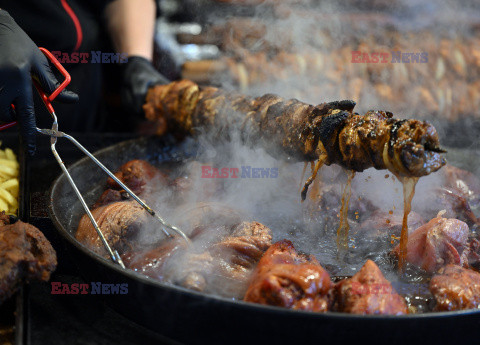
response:
[[[116,0],[107,5],[108,31],[115,50],[152,61],[154,0]]]

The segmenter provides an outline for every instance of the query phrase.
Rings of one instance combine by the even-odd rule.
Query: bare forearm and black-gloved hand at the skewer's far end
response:
[[[148,88],[168,83],[152,66],[156,4],[154,0],[115,0],[105,10],[108,30],[117,53],[128,55],[122,67],[122,101],[142,114]]]

